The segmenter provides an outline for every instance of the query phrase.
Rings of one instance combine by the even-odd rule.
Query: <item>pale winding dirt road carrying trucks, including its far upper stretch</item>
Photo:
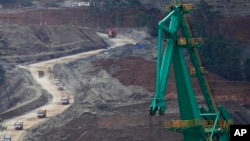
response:
[[[98,33],[100,37],[104,39],[109,45],[109,48],[114,48],[117,46],[125,45],[125,44],[135,44],[135,40],[127,38],[125,36],[118,36],[115,39],[108,39],[107,35]],[[52,96],[52,100],[42,106],[39,107],[33,111],[30,111],[28,113],[25,113],[22,116],[15,117],[12,119],[9,119],[3,123],[3,126],[7,127],[7,130],[4,132],[5,135],[10,135],[13,141],[22,141],[23,137],[26,135],[26,132],[28,129],[38,125],[39,123],[45,122],[50,117],[56,116],[60,113],[62,113],[64,110],[69,108],[70,104],[74,102],[74,97],[67,93],[67,90],[59,91],[57,90],[56,85],[53,84],[53,74],[49,73],[49,68],[53,68],[55,64],[59,63],[67,63],[71,62],[73,60],[79,59],[79,58],[86,58],[94,54],[98,54],[102,52],[103,49],[95,50],[95,51],[89,51],[85,53],[80,53],[76,55],[71,55],[67,57],[57,58],[49,61],[39,62],[35,64],[31,64],[28,66],[19,66],[21,68],[27,69],[31,72],[31,75],[33,76],[34,80],[42,86],[43,89],[45,89],[49,94]],[[38,71],[43,71],[44,76],[39,78]],[[67,84],[65,84],[67,87]],[[62,96],[62,93],[64,95],[70,96],[70,104],[69,105],[61,105],[60,99]],[[43,119],[38,119],[36,112],[39,109],[46,109],[47,110],[47,117]],[[15,130],[14,129],[14,123],[16,121],[22,121],[24,126],[23,130]]]

